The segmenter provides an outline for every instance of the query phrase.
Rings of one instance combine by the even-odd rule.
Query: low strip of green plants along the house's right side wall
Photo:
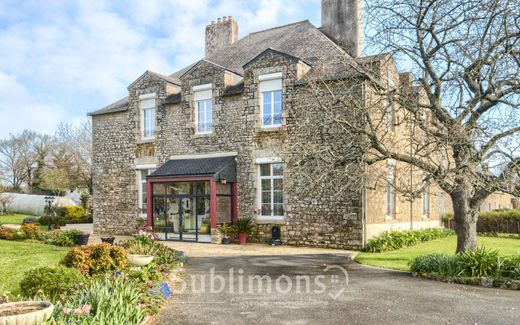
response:
[[[441,228],[385,231],[377,237],[370,239],[365,246],[365,251],[373,253],[385,252],[417,245],[433,239],[444,238],[452,234],[453,230]]]

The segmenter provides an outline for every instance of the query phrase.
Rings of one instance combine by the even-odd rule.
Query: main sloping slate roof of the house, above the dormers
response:
[[[267,49],[285,53],[303,60],[310,66],[319,67],[314,69],[314,71],[311,69],[309,77],[343,75],[345,71],[337,71],[337,67],[344,66],[337,64],[339,60],[348,60],[356,64],[341,47],[308,20],[251,33],[220,51],[205,57],[204,60],[242,75],[244,72],[243,67]],[[168,78],[169,82],[180,83],[180,77],[200,62],[201,60],[196,61],[166,78]],[[155,74],[159,77],[165,77],[157,73]],[[236,92],[237,89],[233,89],[233,91]],[[232,94],[236,94],[235,92]],[[176,97],[172,96],[170,98],[170,100],[173,99],[176,100]],[[116,105],[118,102],[89,115],[123,111],[124,103]]]

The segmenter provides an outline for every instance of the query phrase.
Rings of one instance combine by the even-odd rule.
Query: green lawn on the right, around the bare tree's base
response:
[[[516,255],[520,253],[520,239],[478,237],[478,245],[484,245],[488,249],[496,249],[500,255]],[[398,249],[383,253],[360,252],[356,261],[361,264],[384,267],[389,269],[408,271],[408,261],[421,254],[447,253],[454,254],[457,247],[457,237],[435,239],[416,246]]]

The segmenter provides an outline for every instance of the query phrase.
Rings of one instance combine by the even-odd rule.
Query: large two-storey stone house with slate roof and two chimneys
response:
[[[90,113],[94,231],[133,233],[146,220],[161,239],[211,242],[218,224],[251,216],[258,240],[278,226],[287,244],[360,248],[410,221],[440,226],[449,200],[434,190],[411,215],[388,186],[341,200],[327,182],[312,197],[287,190],[302,176],[283,152],[301,141],[305,80],[337,75],[345,60],[386,58],[361,57],[360,10],[358,0],[323,0],[320,28],[300,21],[241,39],[232,17],[219,18],[206,27],[203,59],[173,74],[146,71],[127,97]]]

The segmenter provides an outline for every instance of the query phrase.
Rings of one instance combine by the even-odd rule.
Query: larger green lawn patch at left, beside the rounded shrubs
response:
[[[25,271],[58,265],[69,251],[66,247],[45,245],[36,242],[0,240],[0,290],[20,293],[19,283]]]

